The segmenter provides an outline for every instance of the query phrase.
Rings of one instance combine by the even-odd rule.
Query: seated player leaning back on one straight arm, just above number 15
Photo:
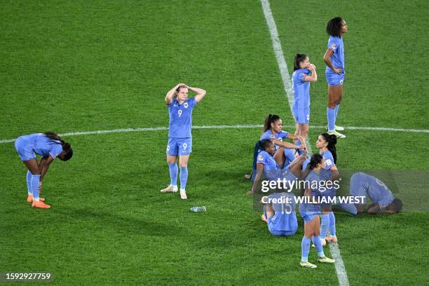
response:
[[[254,178],[252,190],[247,193],[252,195],[256,193],[259,181],[264,175],[267,180],[276,181],[277,179],[286,179],[294,181],[301,177],[302,164],[306,160],[306,155],[296,158],[290,165],[285,165],[285,150],[280,146],[275,151],[274,144],[271,140],[261,140],[259,143],[261,151],[257,158],[257,171]]]

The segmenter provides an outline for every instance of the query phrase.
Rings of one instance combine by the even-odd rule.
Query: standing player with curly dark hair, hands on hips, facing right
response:
[[[326,63],[325,75],[328,83],[327,130],[329,134],[336,137],[346,138],[345,135],[338,132],[344,128],[335,125],[339,104],[343,96],[345,74],[343,35],[347,33],[346,21],[341,17],[329,20],[326,32],[329,34],[329,41],[323,60]]]

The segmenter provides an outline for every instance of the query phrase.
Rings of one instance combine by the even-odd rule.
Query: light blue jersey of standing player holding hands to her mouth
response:
[[[297,69],[292,74],[292,88],[294,89],[293,109],[310,107],[310,82],[304,81],[311,71],[308,69]]]

